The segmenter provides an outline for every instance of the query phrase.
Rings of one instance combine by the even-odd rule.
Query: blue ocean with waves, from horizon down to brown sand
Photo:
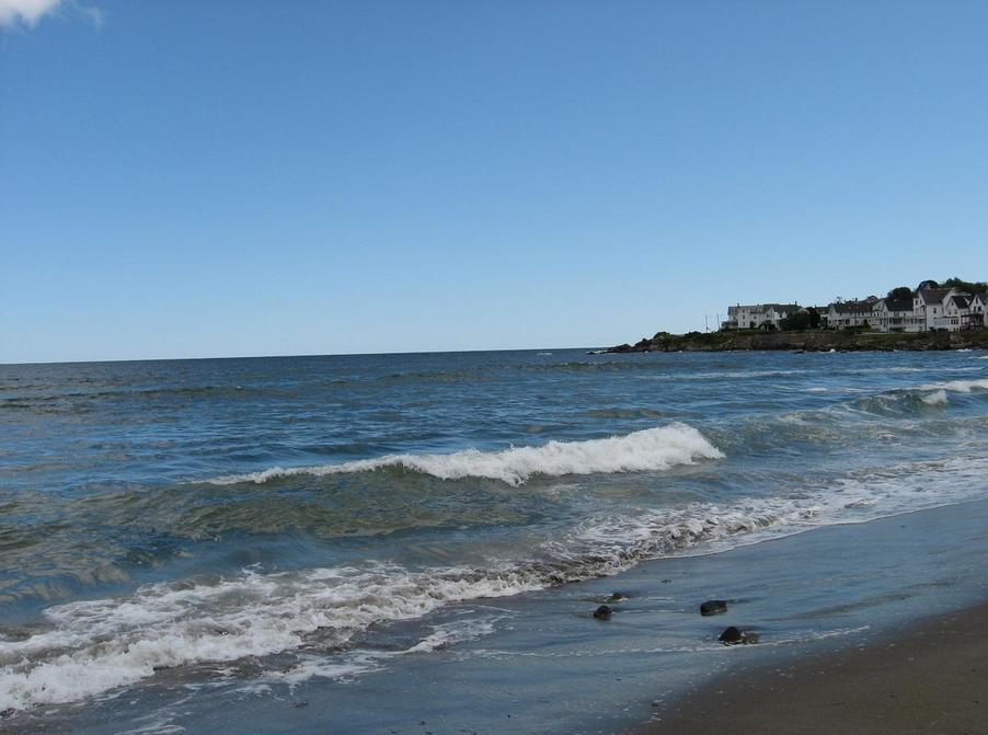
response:
[[[621,732],[983,595],[986,498],[977,351],[0,366],[0,731]]]

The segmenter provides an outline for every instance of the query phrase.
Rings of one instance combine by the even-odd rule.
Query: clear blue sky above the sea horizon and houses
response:
[[[0,0],[0,361],[988,277],[988,2]]]

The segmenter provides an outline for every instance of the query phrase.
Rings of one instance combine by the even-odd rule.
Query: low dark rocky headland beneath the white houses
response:
[[[864,332],[807,330],[763,332],[735,330],[723,332],[659,332],[635,344],[610,347],[609,353],[647,352],[733,352],[733,351],[805,351],[805,352],[893,352],[988,349],[988,329],[963,332]]]

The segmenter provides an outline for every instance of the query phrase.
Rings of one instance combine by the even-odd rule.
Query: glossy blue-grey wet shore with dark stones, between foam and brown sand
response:
[[[809,663],[813,673],[824,668],[816,662],[862,647],[880,651],[886,641],[896,642],[901,631],[915,636],[916,631],[926,630],[923,621],[988,598],[984,567],[977,563],[988,542],[986,518],[988,498],[918,508],[871,521],[819,526],[724,552],[662,556],[616,576],[575,583],[568,593],[555,588],[497,598],[499,613],[517,616],[526,624],[499,631],[496,645],[481,638],[455,645],[448,653],[439,648],[426,656],[410,656],[404,662],[410,670],[390,680],[394,673],[384,667],[367,671],[363,685],[337,687],[330,679],[312,678],[299,682],[290,696],[238,694],[237,714],[231,714],[231,700],[220,689],[198,703],[182,704],[181,711],[162,704],[157,698],[182,681],[182,670],[175,668],[162,671],[163,680],[147,690],[135,688],[126,697],[0,719],[0,733],[103,735],[124,730],[124,723],[129,730],[146,727],[149,717],[157,717],[153,723],[162,727],[230,735],[245,728],[404,735],[831,733],[846,723],[827,712],[813,710],[817,717],[829,717],[827,726],[817,731],[801,730],[799,721],[782,719],[794,701],[800,709],[806,709],[804,700],[829,702],[820,693],[826,688],[819,685],[807,687],[808,693],[783,697],[781,715],[757,703],[754,710],[745,710],[754,698],[743,694],[739,705],[725,704],[717,721],[711,704],[722,699],[719,690],[745,692],[742,684],[748,681],[771,688],[782,678],[779,670],[789,673]],[[919,539],[924,541],[917,543]],[[795,566],[794,558],[802,560]],[[895,564],[889,563],[893,560]],[[863,565],[854,567],[859,562]],[[841,583],[841,594],[835,596],[827,587],[852,567],[868,584]],[[594,620],[590,613],[597,598],[616,589],[627,593],[628,599],[612,620]],[[549,597],[554,601],[547,606]],[[699,616],[697,606],[710,597],[726,598],[728,613]],[[941,615],[930,618],[933,611]],[[988,611],[980,622],[969,623],[975,634],[985,622]],[[715,644],[728,624],[759,632],[761,644]],[[863,630],[859,625],[869,630],[859,633]],[[966,627],[957,630],[957,642],[968,645]],[[490,650],[495,658],[470,655]],[[977,651],[985,661],[983,646]],[[459,668],[463,662],[474,669]],[[562,662],[570,665],[561,668]],[[399,701],[410,690],[415,691],[414,705],[389,712],[382,720],[380,702]],[[134,704],[142,691],[151,692],[153,707]],[[450,707],[450,692],[457,693],[462,705]],[[584,692],[593,696],[585,698]],[[343,696],[348,699],[342,700]],[[347,703],[345,710],[340,708],[342,701]],[[750,712],[750,725],[736,723],[746,712]],[[259,728],[257,723],[269,723],[272,713],[283,725]],[[650,715],[662,720],[648,722]],[[979,732],[866,730],[858,720],[849,722],[853,726],[847,730],[852,733]],[[724,726],[711,731],[717,724]]]

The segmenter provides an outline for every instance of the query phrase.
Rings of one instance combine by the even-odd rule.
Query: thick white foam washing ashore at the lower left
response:
[[[244,571],[218,583],[148,585],[126,599],[70,602],[45,611],[53,630],[0,641],[0,710],[85,699],[160,668],[289,651],[315,631],[340,644],[375,622],[420,618],[449,602],[545,584],[525,569],[409,572],[378,565],[301,574]]]

